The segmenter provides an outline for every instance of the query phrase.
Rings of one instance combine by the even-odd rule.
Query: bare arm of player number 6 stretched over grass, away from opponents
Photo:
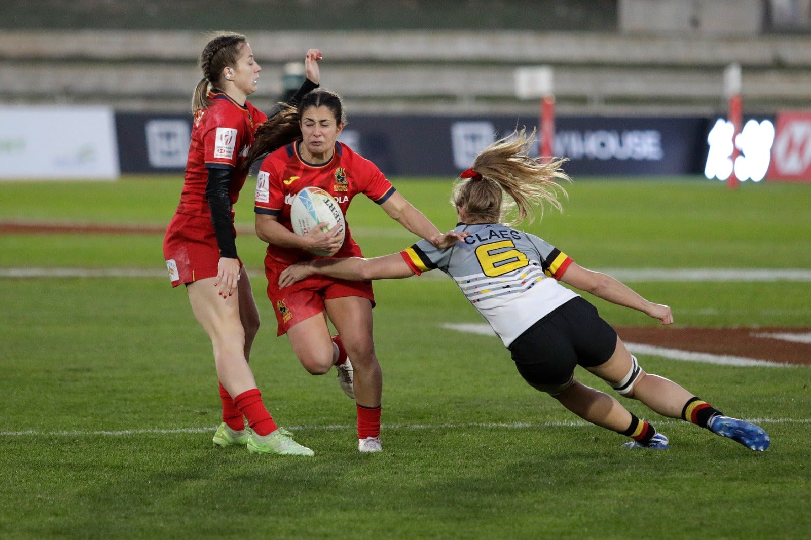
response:
[[[566,268],[566,272],[560,281],[572,285],[577,289],[585,290],[603,300],[614,303],[618,306],[630,307],[631,309],[642,311],[654,319],[659,319],[661,324],[671,324],[673,314],[670,306],[654,304],[642,298],[628,285],[614,279],[608,274],[594,272],[587,268],[578,266],[575,263]]]

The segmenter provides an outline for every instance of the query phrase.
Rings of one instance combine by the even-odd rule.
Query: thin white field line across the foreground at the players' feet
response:
[[[756,424],[811,424],[811,418],[744,418],[748,422]],[[667,420],[657,420],[657,426],[675,426],[683,424],[683,420],[675,418]],[[465,429],[507,429],[524,430],[539,429],[543,427],[581,427],[591,426],[590,422],[582,420],[563,420],[549,422],[466,422],[466,423],[446,423],[446,424],[384,424],[384,430],[465,430]],[[352,431],[357,428],[354,424],[331,425],[331,426],[286,426],[293,431]],[[211,427],[178,427],[174,429],[139,429],[139,430],[115,430],[115,431],[92,431],[92,430],[66,430],[66,431],[0,431],[0,437],[24,437],[24,436],[45,436],[45,437],[119,437],[128,435],[182,435],[186,433],[213,433],[217,426]]]

